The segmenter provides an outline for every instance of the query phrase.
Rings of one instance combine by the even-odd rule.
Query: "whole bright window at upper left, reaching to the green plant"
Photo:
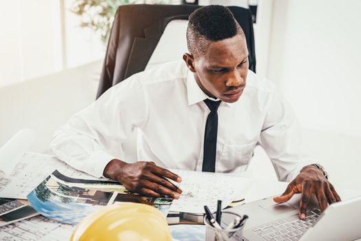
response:
[[[103,59],[105,45],[73,0],[0,0],[0,87]]]

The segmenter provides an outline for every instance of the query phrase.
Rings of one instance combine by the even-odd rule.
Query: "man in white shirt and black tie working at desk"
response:
[[[206,6],[192,13],[187,46],[185,63],[135,74],[74,115],[56,132],[54,154],[131,191],[179,198],[181,190],[167,178],[181,178],[169,168],[245,171],[258,144],[278,178],[291,181],[276,202],[302,192],[305,219],[311,195],[322,211],[340,201],[322,167],[300,153],[300,127],[289,105],[273,83],[248,70],[245,36],[231,12]],[[140,161],[127,163],[121,143],[134,129]]]

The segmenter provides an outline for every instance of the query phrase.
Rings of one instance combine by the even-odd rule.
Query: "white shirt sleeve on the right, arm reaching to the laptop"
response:
[[[296,114],[275,90],[260,133],[260,145],[271,159],[278,180],[291,181],[302,167],[314,163],[303,153],[301,144],[302,132]]]

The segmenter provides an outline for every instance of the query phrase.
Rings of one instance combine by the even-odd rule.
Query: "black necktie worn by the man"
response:
[[[205,123],[205,145],[203,148],[203,166],[202,171],[216,171],[216,148],[218,131],[217,109],[220,101],[211,101],[205,99],[205,104],[211,110]]]

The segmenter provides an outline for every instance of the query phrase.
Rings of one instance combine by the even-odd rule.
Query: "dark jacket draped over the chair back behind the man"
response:
[[[112,85],[145,70],[167,23],[176,19],[187,20],[189,14],[197,8],[200,6],[136,4],[118,7],[96,97],[99,98]],[[249,70],[256,72],[251,13],[247,8],[228,8],[245,32]]]

